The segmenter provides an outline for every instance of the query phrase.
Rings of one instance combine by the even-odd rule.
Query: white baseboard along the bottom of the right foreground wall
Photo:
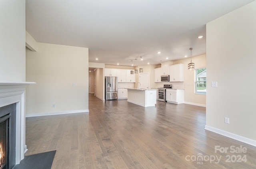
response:
[[[205,126],[204,129],[256,147],[256,140],[252,140],[250,138],[239,136],[237,134],[226,132],[224,130],[220,130],[218,128],[213,128],[213,127],[210,127],[210,126]]]

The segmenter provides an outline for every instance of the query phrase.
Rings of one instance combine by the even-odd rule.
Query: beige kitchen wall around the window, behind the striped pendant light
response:
[[[192,62],[195,63],[195,69],[205,68],[206,55],[199,55],[199,56],[192,57]],[[194,84],[195,74],[194,74],[194,71],[188,71],[188,63],[190,63],[190,58],[173,62],[173,64],[178,64],[178,63],[184,64],[184,83],[181,84],[180,82],[172,82],[172,85],[173,86],[184,85],[184,102],[185,103],[195,104],[198,106],[206,106],[206,95],[195,94],[195,84]],[[207,70],[207,75],[208,75],[208,70]]]

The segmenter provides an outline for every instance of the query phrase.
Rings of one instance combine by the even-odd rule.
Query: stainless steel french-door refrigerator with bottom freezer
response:
[[[117,77],[105,77],[105,100],[116,100],[118,91]]]

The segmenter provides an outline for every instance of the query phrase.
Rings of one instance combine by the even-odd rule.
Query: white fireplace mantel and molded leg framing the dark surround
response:
[[[34,82],[0,81],[0,107],[16,103],[16,164],[24,159],[25,143],[25,90]]]

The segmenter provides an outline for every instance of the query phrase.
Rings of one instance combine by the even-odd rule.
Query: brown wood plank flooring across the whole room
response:
[[[204,130],[204,107],[89,94],[89,111],[26,118],[26,155],[57,150],[52,169],[256,169],[256,147]],[[216,145],[247,152],[215,153]],[[247,162],[232,162],[239,155]]]

